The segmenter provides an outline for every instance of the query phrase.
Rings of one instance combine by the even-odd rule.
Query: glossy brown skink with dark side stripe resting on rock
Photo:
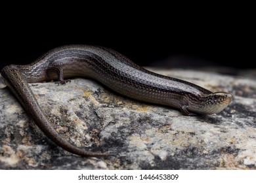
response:
[[[110,156],[90,152],[65,141],[43,114],[28,83],[58,79],[65,84],[74,76],[101,82],[111,90],[149,103],[179,108],[185,115],[215,114],[232,101],[232,95],[210,92],[196,84],[152,73],[114,50],[85,45],[55,48],[29,65],[8,65],[1,71],[5,84],[35,124],[58,146],[79,156]]]

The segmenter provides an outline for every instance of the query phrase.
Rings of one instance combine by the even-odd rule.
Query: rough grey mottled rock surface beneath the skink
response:
[[[122,97],[86,78],[30,84],[64,139],[116,157],[81,158],[33,124],[8,88],[0,89],[0,169],[256,169],[256,81],[209,71],[153,71],[235,99],[219,114],[179,110]],[[255,71],[251,75],[255,75]]]

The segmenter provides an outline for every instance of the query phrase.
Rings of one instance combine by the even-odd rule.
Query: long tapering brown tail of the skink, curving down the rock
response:
[[[28,82],[26,82],[26,77],[22,75],[20,69],[16,65],[9,65],[3,68],[1,71],[2,78],[5,84],[10,88],[11,92],[16,96],[18,101],[22,104],[22,107],[26,112],[28,112],[29,116],[33,118],[35,124],[53,141],[55,144],[71,152],[73,154],[77,154],[79,156],[111,156],[110,154],[104,154],[100,152],[89,152],[85,151],[82,148],[77,148],[65,141],[52,125],[49,123],[45,115],[43,114],[35,96],[33,95]]]

